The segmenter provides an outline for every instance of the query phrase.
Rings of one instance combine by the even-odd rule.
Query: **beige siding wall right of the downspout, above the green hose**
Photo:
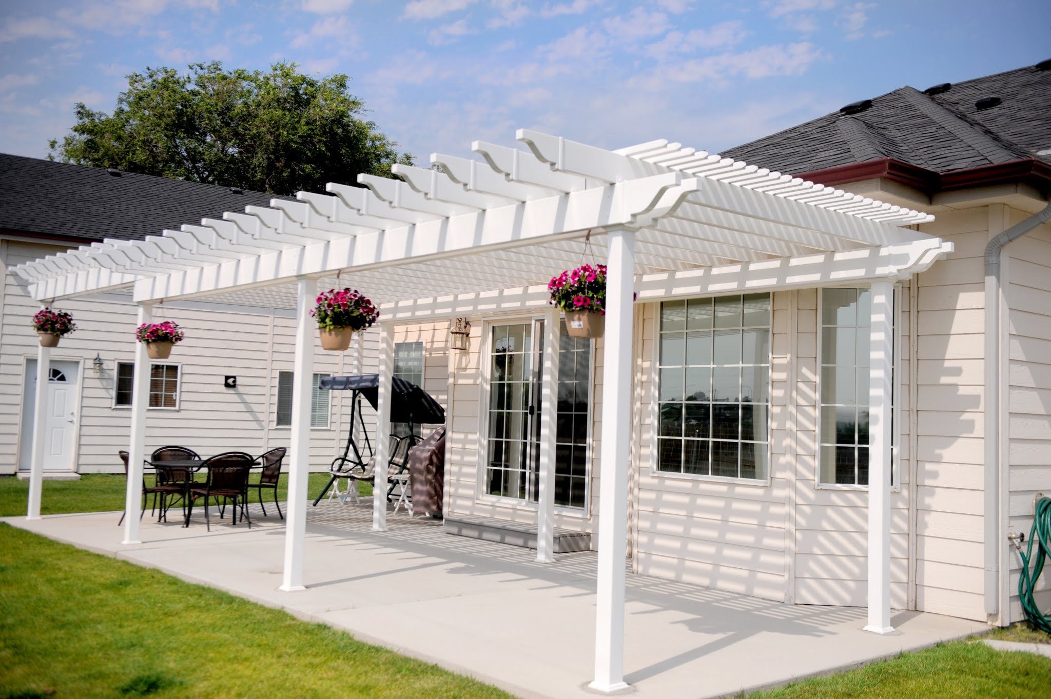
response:
[[[1007,212],[1013,226],[1028,214]],[[1051,495],[1051,226],[1042,226],[1004,250],[1008,376],[1005,404],[1008,437],[1007,524],[1029,535],[1033,495]],[[1018,603],[1021,562],[1013,550],[1010,570],[1011,621],[1023,618]],[[1036,602],[1051,606],[1051,575],[1037,585]]]

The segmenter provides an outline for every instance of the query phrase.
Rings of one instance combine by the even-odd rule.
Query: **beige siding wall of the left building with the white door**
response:
[[[63,249],[14,240],[3,243],[4,270]],[[79,325],[51,351],[53,359],[81,362],[76,468],[82,473],[120,471],[117,451],[127,448],[130,410],[112,406],[115,374],[118,361],[133,361],[135,305],[128,297],[112,294],[58,305],[73,312]],[[37,354],[37,336],[29,325],[37,308],[24,282],[5,271],[0,322],[0,473],[14,473],[18,468],[24,364]],[[169,360],[181,365],[180,409],[149,410],[147,449],[179,443],[211,454],[228,449],[257,453],[288,446],[288,428],[276,427],[274,421],[277,372],[292,369],[295,320],[291,313],[172,304],[158,309],[154,317],[179,322],[187,337]],[[374,372],[375,333],[368,333],[365,342],[365,361]],[[96,354],[105,362],[101,375],[91,366]],[[352,366],[350,353],[318,348],[314,361],[317,373],[349,373]],[[235,389],[223,386],[225,375],[238,377]],[[342,453],[348,408],[347,396],[333,393],[330,426],[311,431],[312,469],[327,468]]]

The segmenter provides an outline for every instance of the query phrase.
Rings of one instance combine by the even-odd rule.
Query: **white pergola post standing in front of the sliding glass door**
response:
[[[536,513],[536,560],[555,562],[555,421],[558,416],[558,335],[562,314],[552,306],[543,318],[540,365],[540,465]]]

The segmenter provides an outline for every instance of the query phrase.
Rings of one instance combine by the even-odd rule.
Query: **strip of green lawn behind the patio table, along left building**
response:
[[[257,481],[259,475],[253,473],[252,480]],[[309,500],[317,496],[317,493],[322,491],[328,480],[328,473],[310,474],[310,486],[307,489]],[[40,496],[40,513],[66,514],[69,512],[123,510],[126,483],[123,474],[111,475],[107,473],[82,475],[80,481],[44,481],[43,491]],[[152,483],[153,476],[147,475],[146,484],[152,485]],[[363,495],[372,494],[372,488],[367,483],[358,484],[358,490]],[[257,490],[248,491],[249,502],[257,502]],[[0,478],[0,516],[25,514],[28,493],[28,481],[19,481],[15,476]],[[277,497],[284,502],[287,495],[288,474],[285,474],[281,476]],[[152,502],[152,495],[150,495],[149,502]],[[273,493],[264,490],[263,502],[267,505],[267,512],[271,512],[272,509],[269,505],[273,502]],[[198,506],[200,505],[201,503],[199,502]],[[146,507],[149,507],[149,503],[147,503]]]

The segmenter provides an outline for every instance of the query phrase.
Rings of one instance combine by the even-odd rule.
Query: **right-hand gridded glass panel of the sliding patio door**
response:
[[[582,508],[588,494],[592,340],[570,337],[563,320],[558,343],[555,504]]]

